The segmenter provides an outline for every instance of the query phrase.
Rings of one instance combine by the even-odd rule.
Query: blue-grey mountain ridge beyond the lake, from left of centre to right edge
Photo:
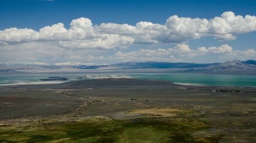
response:
[[[205,74],[256,74],[256,61],[228,61],[224,63],[168,63],[168,62],[122,62],[104,66],[78,66],[77,69],[100,69],[102,67],[112,67],[115,69],[161,69],[162,72],[170,73],[205,73]],[[166,70],[164,70],[166,69]],[[136,70],[137,72],[140,70]],[[143,72],[143,70],[141,70]]]

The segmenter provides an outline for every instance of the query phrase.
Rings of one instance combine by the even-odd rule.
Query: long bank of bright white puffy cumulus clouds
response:
[[[243,17],[233,12],[224,12],[221,16],[212,19],[174,15],[170,16],[165,24],[141,21],[136,25],[118,23],[93,25],[90,19],[81,17],[72,20],[69,29],[65,28],[63,23],[45,26],[39,31],[30,28],[7,28],[0,31],[0,44],[56,41],[56,44],[62,48],[114,49],[132,44],[184,43],[202,37],[214,37],[220,41],[234,40],[239,34],[254,31],[256,31],[255,16]]]

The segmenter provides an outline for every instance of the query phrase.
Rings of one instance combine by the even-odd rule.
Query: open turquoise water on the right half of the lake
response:
[[[134,74],[141,79],[168,80],[181,84],[256,87],[256,75]]]

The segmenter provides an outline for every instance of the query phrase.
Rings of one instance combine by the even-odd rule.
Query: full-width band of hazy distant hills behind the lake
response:
[[[256,61],[228,61],[224,63],[168,63],[126,61],[112,65],[82,66],[0,66],[0,74],[49,73],[49,72],[90,72],[90,73],[203,73],[203,74],[254,74]]]

